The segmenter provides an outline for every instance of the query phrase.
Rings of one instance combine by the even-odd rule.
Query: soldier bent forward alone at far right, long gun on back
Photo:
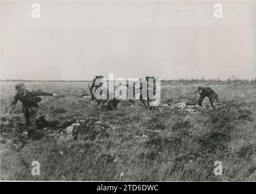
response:
[[[198,87],[198,93],[200,95],[198,99],[198,105],[202,107],[202,101],[204,98],[208,97],[210,100],[210,105],[212,105],[213,108],[215,108],[214,102],[215,100],[218,100],[218,95],[214,92],[214,90],[211,87]]]

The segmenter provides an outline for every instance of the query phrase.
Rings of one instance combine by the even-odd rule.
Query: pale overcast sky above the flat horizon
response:
[[[255,1],[0,2],[1,79],[256,78]]]

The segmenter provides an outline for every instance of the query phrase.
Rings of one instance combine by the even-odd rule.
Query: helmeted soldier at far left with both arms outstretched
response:
[[[41,90],[27,90],[22,82],[19,82],[15,85],[15,90],[17,93],[10,104],[6,116],[9,117],[12,111],[15,109],[17,102],[21,101],[23,104],[22,113],[24,113],[27,126],[29,126],[30,124],[32,124],[33,126],[35,125],[36,117],[38,115],[38,102],[41,101],[41,98],[38,96],[57,96],[55,93],[43,92]],[[32,133],[33,129],[29,130],[29,138],[32,136]]]

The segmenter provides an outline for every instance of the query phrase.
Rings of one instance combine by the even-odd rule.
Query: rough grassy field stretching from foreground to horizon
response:
[[[17,124],[23,121],[18,102],[10,124],[1,122],[1,179],[256,181],[256,83],[213,82],[217,109],[189,112],[171,105],[197,99],[195,90],[206,82],[162,82],[161,102],[168,106],[122,101],[116,111],[78,98],[88,91],[86,82],[26,82],[29,89],[64,95],[40,102],[41,115],[61,124],[27,139],[26,127]],[[15,84],[1,82],[1,116]],[[80,125],[67,138],[72,122]],[[40,176],[32,176],[32,161],[40,162]],[[222,176],[213,173],[215,161],[223,164]]]

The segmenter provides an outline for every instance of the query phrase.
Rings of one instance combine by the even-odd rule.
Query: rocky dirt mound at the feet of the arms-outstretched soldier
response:
[[[20,121],[20,118],[18,118]],[[72,118],[60,124],[58,121],[47,121],[45,116],[36,119],[35,126],[21,126],[15,118],[7,121],[1,118],[1,142],[12,142],[19,147],[32,140],[52,139],[55,141],[73,141],[81,139],[103,139],[109,136],[109,125],[95,118]],[[2,135],[4,134],[4,135]]]

